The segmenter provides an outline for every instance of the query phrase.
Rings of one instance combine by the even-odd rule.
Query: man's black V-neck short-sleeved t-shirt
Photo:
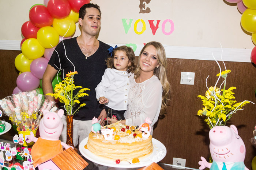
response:
[[[59,56],[57,52],[54,51],[48,64],[56,70],[61,69],[61,79],[63,79],[63,77],[65,78],[65,75],[70,71],[78,71],[78,74],[74,76],[75,86],[90,89],[90,91],[85,91],[89,96],[80,98],[80,104],[86,103],[86,106],[81,107],[79,111],[75,113],[74,119],[92,120],[93,116],[97,118],[102,109],[99,108],[100,104],[96,99],[95,88],[101,82],[102,75],[107,68],[105,60],[109,57],[108,48],[110,46],[99,41],[98,50],[86,59],[86,56],[84,56],[83,52],[80,50],[76,37],[63,40],[63,42],[61,41],[55,48]],[[75,94],[76,92],[77,91],[75,91]],[[80,104],[77,105],[79,106]],[[76,110],[76,108],[73,109]],[[63,110],[65,109],[63,108]]]

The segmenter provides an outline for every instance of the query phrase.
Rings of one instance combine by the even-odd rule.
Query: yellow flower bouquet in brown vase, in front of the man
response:
[[[54,91],[55,93],[48,93],[46,95],[53,96],[55,99],[59,99],[61,103],[64,104],[64,108],[66,110],[67,115],[71,116],[74,115],[80,107],[85,106],[85,103],[80,104],[80,106],[73,110],[76,104],[79,104],[79,98],[82,98],[83,96],[88,96],[87,93],[84,93],[86,90],[90,90],[89,88],[83,88],[82,86],[75,86],[74,84],[74,75],[78,74],[77,71],[74,72],[68,72],[66,74],[66,78],[60,82],[59,84],[56,84]],[[77,94],[73,94],[73,91],[77,88],[81,88]]]

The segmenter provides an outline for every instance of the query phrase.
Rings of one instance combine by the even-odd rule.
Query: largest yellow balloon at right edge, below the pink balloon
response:
[[[241,16],[241,25],[245,31],[256,33],[256,10],[246,9]]]

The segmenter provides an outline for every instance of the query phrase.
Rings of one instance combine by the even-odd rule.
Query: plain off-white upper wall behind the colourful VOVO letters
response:
[[[20,28],[29,20],[29,9],[43,0],[0,0],[0,40],[22,40]],[[159,41],[166,46],[214,47],[252,49],[251,35],[241,26],[241,13],[236,5],[228,5],[222,0],[151,0],[146,7],[150,13],[139,13],[140,0],[91,0],[101,7],[102,24],[98,39],[108,44],[134,43],[142,45],[148,41]],[[126,34],[122,19],[133,19]],[[138,35],[133,30],[136,20],[146,23],[146,31]],[[162,33],[162,23],[170,19],[174,31],[170,35]],[[161,20],[155,35],[148,20]],[[78,25],[78,24],[77,24]],[[173,25],[172,25],[173,26]],[[165,31],[171,24],[166,23]],[[141,22],[137,30],[142,30]],[[75,36],[80,34],[77,27]]]

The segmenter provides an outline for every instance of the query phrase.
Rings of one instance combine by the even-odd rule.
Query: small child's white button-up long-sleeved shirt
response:
[[[109,102],[105,105],[114,110],[126,110],[128,103],[128,86],[131,73],[107,68],[101,82],[95,88],[96,98],[105,96]]]

